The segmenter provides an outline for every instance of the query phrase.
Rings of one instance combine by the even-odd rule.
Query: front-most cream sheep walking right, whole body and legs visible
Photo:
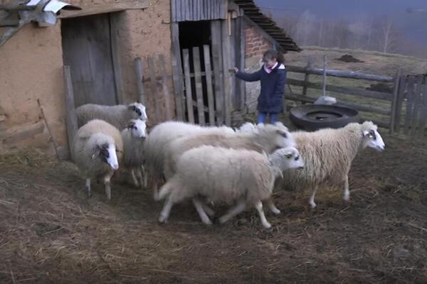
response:
[[[212,224],[204,212],[199,195],[213,202],[237,202],[219,218],[221,224],[243,212],[247,204],[257,210],[265,228],[263,200],[270,200],[275,178],[288,168],[304,165],[296,148],[280,148],[271,155],[255,151],[214,146],[192,148],[177,161],[175,175],[160,189],[158,200],[167,198],[159,216],[166,222],[173,204],[192,198],[204,224]]]

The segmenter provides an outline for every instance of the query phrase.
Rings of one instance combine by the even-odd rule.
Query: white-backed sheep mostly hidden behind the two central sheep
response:
[[[145,168],[153,179],[154,197],[157,196],[158,183],[163,173],[164,152],[168,143],[194,133],[233,134],[234,131],[227,126],[198,126],[181,121],[165,121],[154,126],[144,142]]]

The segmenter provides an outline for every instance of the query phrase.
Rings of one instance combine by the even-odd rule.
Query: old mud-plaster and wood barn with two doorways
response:
[[[68,2],[81,9],[28,23],[0,46],[0,151],[68,157],[65,114],[86,103],[140,101],[152,124],[233,124],[245,90],[231,68],[267,48],[300,50],[252,0]],[[17,12],[0,4],[3,36]]]

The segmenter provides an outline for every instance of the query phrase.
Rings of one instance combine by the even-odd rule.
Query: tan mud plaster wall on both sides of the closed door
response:
[[[0,1],[2,2],[2,1]],[[79,6],[113,1],[69,1]],[[125,102],[137,100],[134,58],[157,58],[163,54],[167,75],[172,74],[170,1],[149,1],[149,8],[119,12],[119,52]],[[4,30],[0,29],[0,32]],[[37,99],[40,99],[58,146],[67,146],[63,89],[63,58],[60,21],[49,28],[31,24],[0,47],[0,151],[32,146],[53,154],[46,127],[43,127]],[[145,64],[144,73],[147,73]],[[158,72],[158,69],[156,69]],[[158,86],[159,87],[159,86]],[[172,80],[168,84],[174,116]],[[162,89],[154,94],[145,84],[147,113],[153,123],[154,96],[164,105]],[[161,107],[164,114],[164,107]],[[33,131],[32,138],[11,138],[16,133]],[[41,132],[41,133],[38,133]],[[15,136],[16,137],[16,136]]]

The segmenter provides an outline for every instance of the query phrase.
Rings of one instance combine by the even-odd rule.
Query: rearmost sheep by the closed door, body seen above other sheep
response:
[[[147,121],[147,113],[143,104],[118,104],[117,106],[105,106],[100,104],[83,104],[75,109],[78,126],[81,127],[92,119],[102,119],[109,124],[124,129],[130,119]]]

